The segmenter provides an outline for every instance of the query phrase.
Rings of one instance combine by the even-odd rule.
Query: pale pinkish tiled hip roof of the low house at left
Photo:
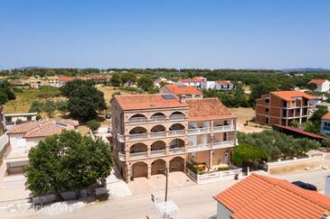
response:
[[[78,126],[75,120],[42,120],[18,124],[8,134],[24,133],[24,138],[46,137],[53,134],[60,134],[61,131],[74,130]]]

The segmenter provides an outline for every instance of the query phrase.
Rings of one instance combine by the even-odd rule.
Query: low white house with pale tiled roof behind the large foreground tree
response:
[[[4,160],[6,173],[22,173],[29,162],[29,150],[39,141],[53,134],[60,134],[63,130],[77,130],[78,126],[79,123],[75,120],[42,120],[14,126],[7,132],[11,151]]]

